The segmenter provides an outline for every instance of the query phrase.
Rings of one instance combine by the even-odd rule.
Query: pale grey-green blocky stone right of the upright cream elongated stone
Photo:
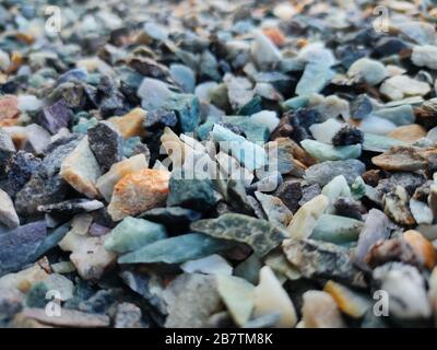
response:
[[[358,240],[363,222],[359,220],[322,214],[310,235],[311,240],[343,244]]]

